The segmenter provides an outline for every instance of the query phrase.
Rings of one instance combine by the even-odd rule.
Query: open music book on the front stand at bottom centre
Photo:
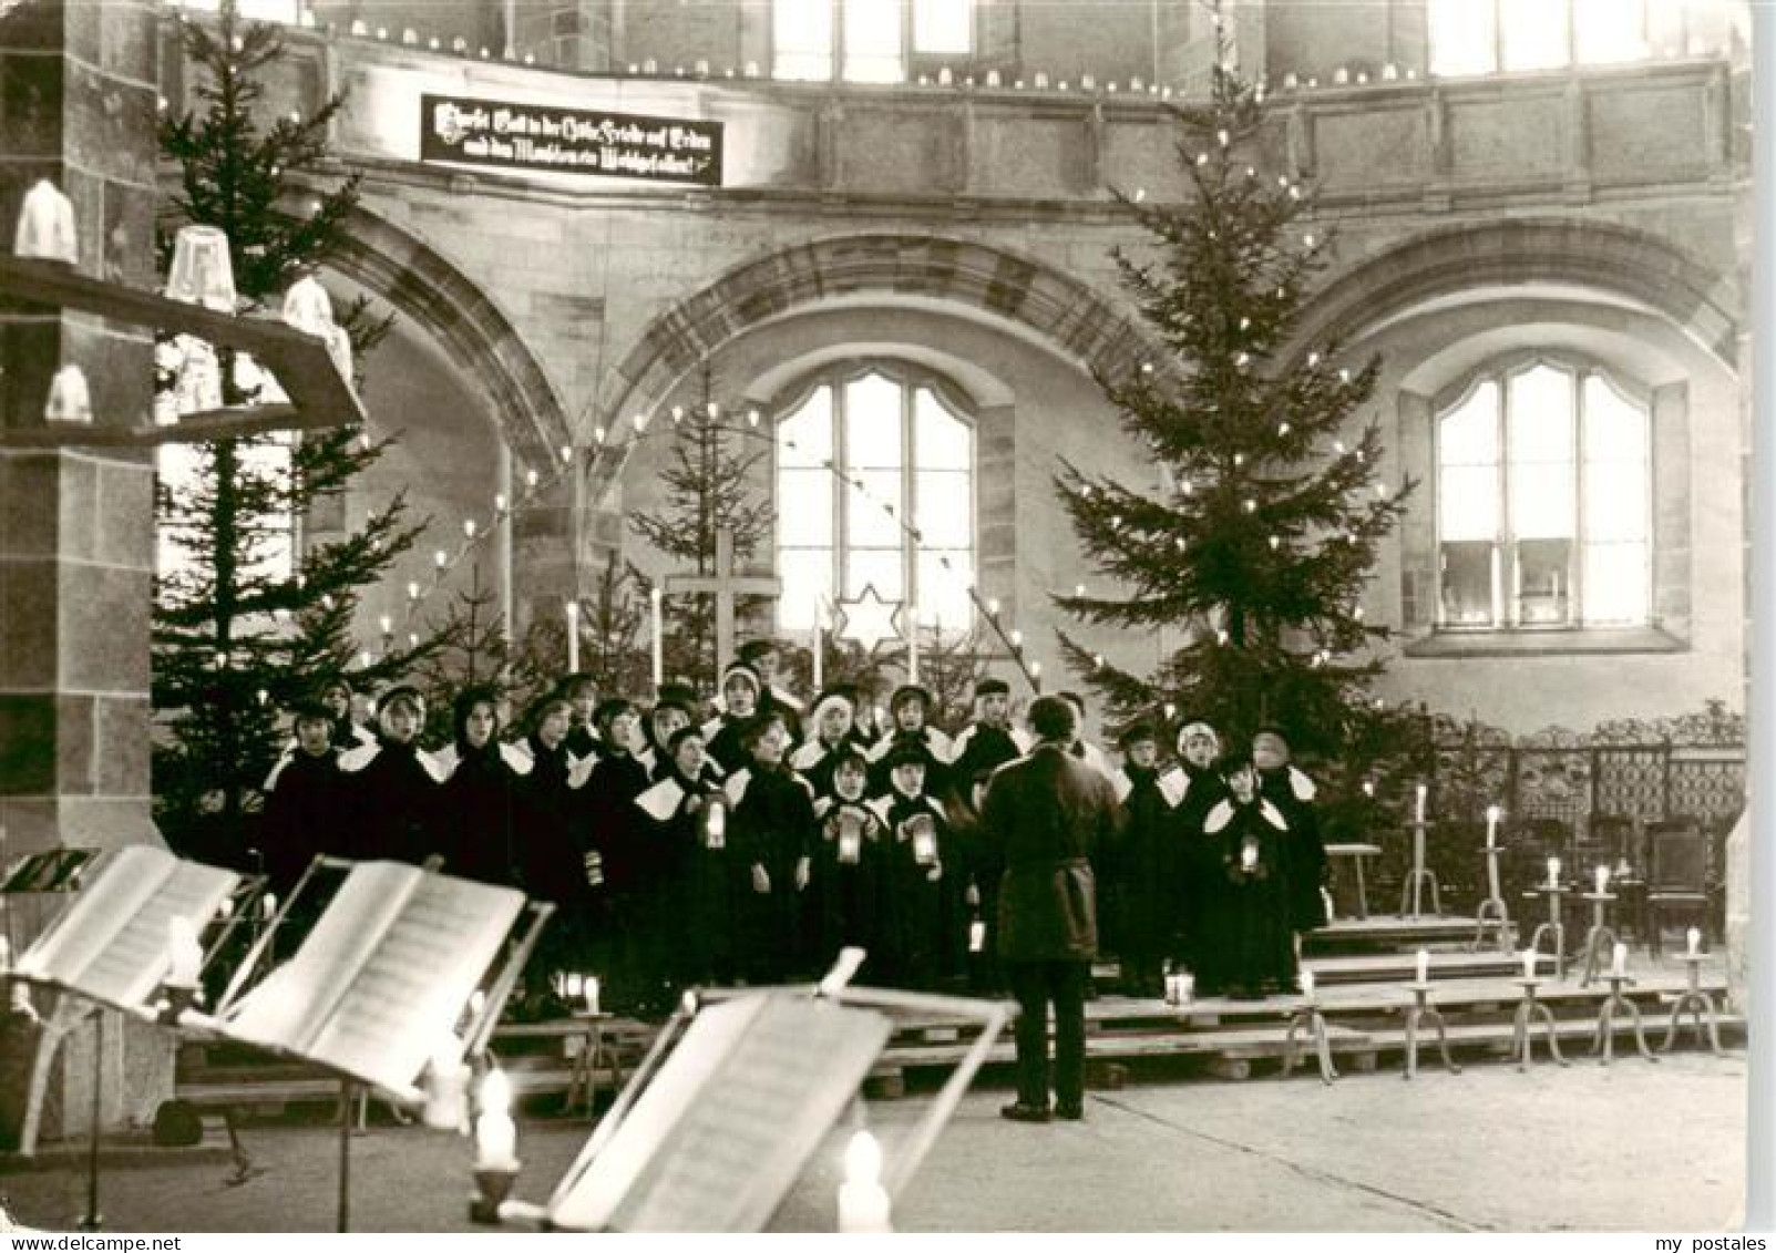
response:
[[[758,1232],[888,1042],[884,1013],[760,992],[703,1008],[549,1203],[579,1232]]]

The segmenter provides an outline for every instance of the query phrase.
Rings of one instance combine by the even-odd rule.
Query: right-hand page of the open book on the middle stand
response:
[[[394,1091],[410,1088],[522,910],[524,893],[511,887],[421,875],[307,1056]]]

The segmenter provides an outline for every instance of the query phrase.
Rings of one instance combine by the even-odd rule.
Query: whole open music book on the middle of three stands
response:
[[[396,861],[352,868],[297,955],[217,1029],[417,1099],[416,1081],[524,910],[524,893]]]

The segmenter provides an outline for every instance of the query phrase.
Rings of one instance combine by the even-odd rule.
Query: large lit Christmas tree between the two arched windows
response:
[[[1378,744],[1392,715],[1368,696],[1387,628],[1364,618],[1376,547],[1412,485],[1378,474],[1368,405],[1376,360],[1296,343],[1330,238],[1300,170],[1266,165],[1261,85],[1218,64],[1206,103],[1176,110],[1193,190],[1181,204],[1122,204],[1153,250],[1114,256],[1151,339],[1163,346],[1098,382],[1162,486],[1142,492],[1064,465],[1057,488],[1090,561],[1114,587],[1057,596],[1069,614],[1142,635],[1181,630],[1151,674],[1103,662],[1062,634],[1069,666],[1114,717],[1174,705],[1229,744],[1280,722],[1298,754]],[[1376,749],[1380,751],[1380,749]]]

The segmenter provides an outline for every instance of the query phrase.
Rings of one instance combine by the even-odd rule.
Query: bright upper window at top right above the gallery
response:
[[[1430,0],[1431,73],[1492,75],[1687,50],[1687,0]]]

